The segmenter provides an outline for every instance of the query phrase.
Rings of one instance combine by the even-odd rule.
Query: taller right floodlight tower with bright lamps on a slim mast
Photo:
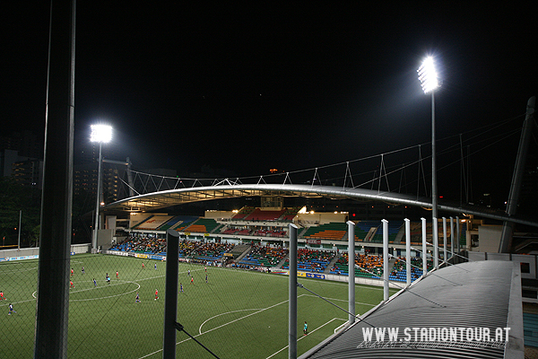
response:
[[[432,235],[435,237],[437,231],[433,226],[437,226],[438,218],[438,193],[437,193],[437,169],[436,169],[436,150],[435,150],[435,90],[439,87],[438,74],[435,70],[433,57],[426,57],[422,65],[417,70],[419,80],[421,81],[424,93],[431,92],[431,218],[432,218]],[[437,241],[433,239],[435,250],[437,252]],[[437,256],[436,256],[437,258]]]

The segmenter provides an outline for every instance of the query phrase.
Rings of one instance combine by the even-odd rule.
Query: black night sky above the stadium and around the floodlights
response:
[[[4,130],[42,131],[49,7],[8,3]],[[139,167],[294,171],[417,144],[428,152],[430,97],[416,77],[428,54],[442,80],[439,139],[519,116],[499,128],[509,133],[537,92],[534,5],[198,3],[78,2],[77,144],[104,120],[117,156]],[[518,139],[473,157],[477,190],[508,193]]]

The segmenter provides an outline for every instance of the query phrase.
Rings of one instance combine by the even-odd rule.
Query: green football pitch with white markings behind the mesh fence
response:
[[[71,267],[69,358],[162,357],[166,262],[82,254],[71,257]],[[178,276],[183,285],[178,322],[215,355],[288,357],[288,276],[187,263],[179,263]],[[5,298],[0,302],[0,358],[33,357],[37,278],[37,260],[0,263]],[[346,283],[305,277],[298,281],[347,310]],[[136,293],[141,302],[135,302]],[[356,285],[355,295],[355,311],[362,314],[383,299],[383,290]],[[17,312],[8,315],[10,302]],[[298,288],[299,355],[334,334],[347,317],[345,311]],[[307,336],[302,333],[305,321]],[[178,358],[213,358],[183,332],[177,333],[176,352]]]

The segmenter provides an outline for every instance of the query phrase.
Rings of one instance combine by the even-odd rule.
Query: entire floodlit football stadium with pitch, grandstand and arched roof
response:
[[[98,202],[91,243],[63,262],[65,355],[524,357],[538,262],[528,237],[512,253],[499,247],[503,223],[533,228],[533,218],[444,198],[432,217],[430,197],[389,190],[420,160],[374,180],[358,162],[235,180],[127,169],[128,195]],[[57,252],[0,250],[13,328],[1,357],[31,356],[36,316],[57,316],[39,311],[48,294],[38,294],[39,266]]]

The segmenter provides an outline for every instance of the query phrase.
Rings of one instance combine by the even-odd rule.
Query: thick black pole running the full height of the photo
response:
[[[67,357],[73,196],[75,1],[50,7],[35,358]]]

